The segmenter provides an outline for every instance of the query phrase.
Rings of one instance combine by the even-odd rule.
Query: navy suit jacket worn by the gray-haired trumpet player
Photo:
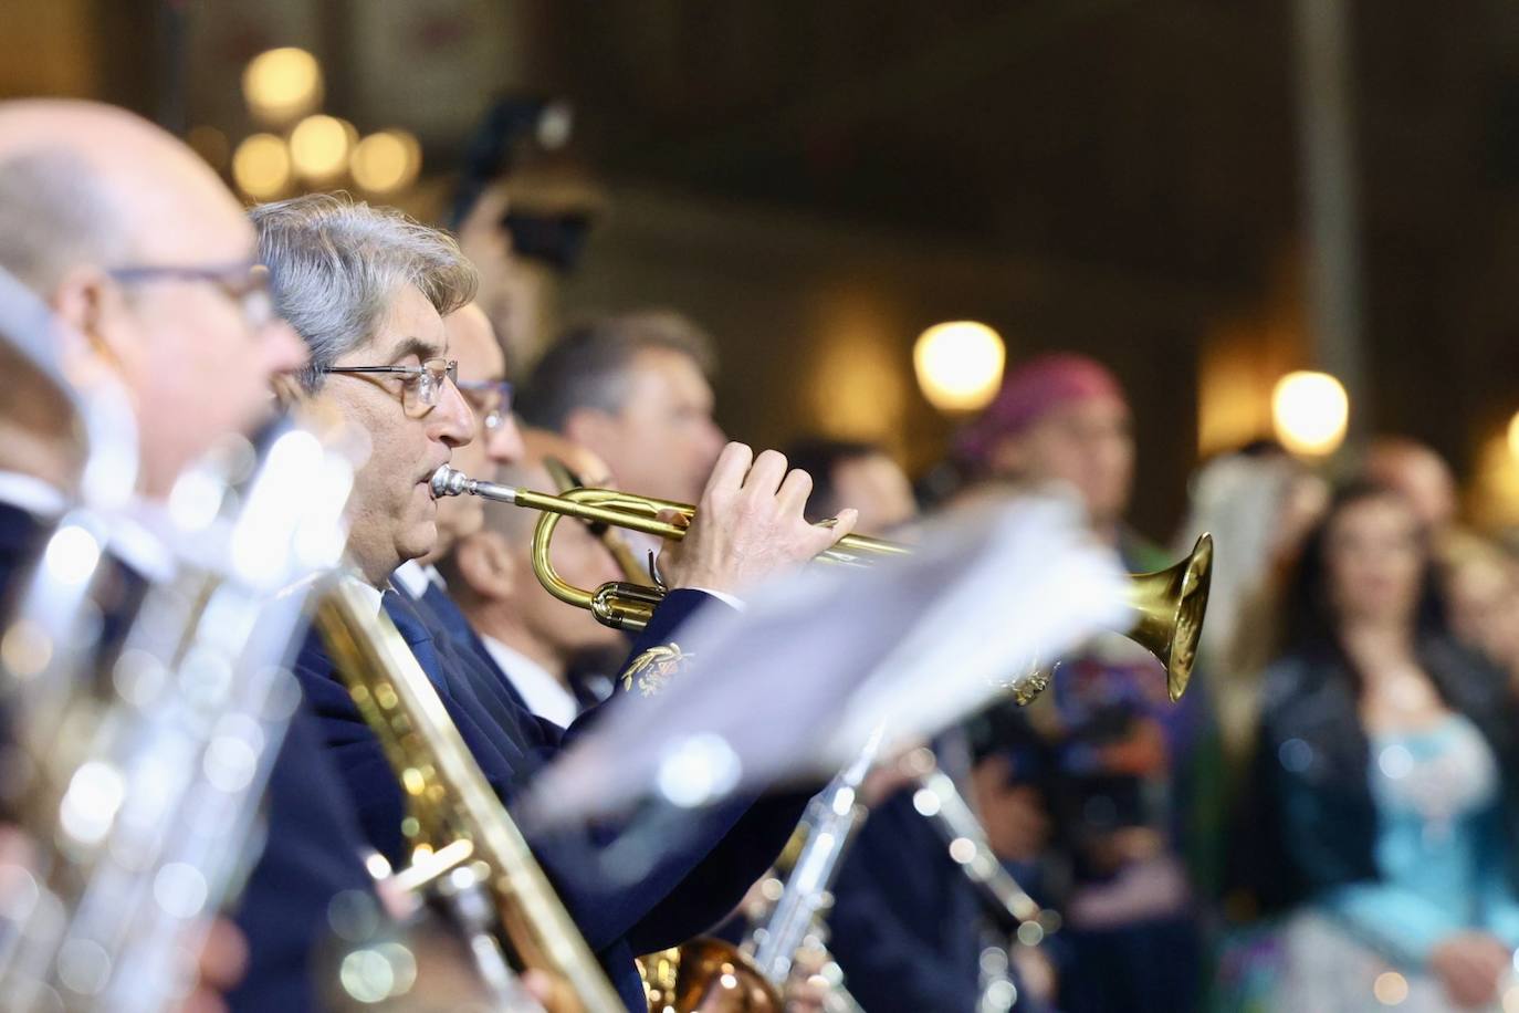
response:
[[[674,627],[709,600],[699,591],[671,592],[633,645],[633,656],[670,639]],[[592,708],[570,731],[523,706],[506,676],[491,662],[462,617],[396,592],[384,609],[427,673],[469,752],[497,794],[510,802],[524,782],[567,743],[595,721],[602,706],[638,706],[636,693],[618,693]],[[456,627],[450,632],[450,626]],[[469,635],[468,641],[457,638]],[[308,639],[296,665],[307,699],[322,721],[325,744],[348,781],[368,838],[392,861],[403,861],[403,799],[378,740],[363,723],[319,638]],[[688,673],[700,677],[700,673]],[[723,919],[785,844],[807,797],[737,797],[681,825],[673,840],[633,882],[598,875],[595,849],[626,840],[635,828],[602,826],[589,841],[533,841],[533,850],[565,907],[611,975],[630,1010],[647,1008],[633,955],[671,946]],[[589,843],[588,849],[585,844]]]

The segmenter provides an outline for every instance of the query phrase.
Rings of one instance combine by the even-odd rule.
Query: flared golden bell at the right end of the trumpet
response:
[[[1165,665],[1165,690],[1173,703],[1182,699],[1192,679],[1212,571],[1214,536],[1205,533],[1182,562],[1129,579],[1136,615],[1129,639]]]

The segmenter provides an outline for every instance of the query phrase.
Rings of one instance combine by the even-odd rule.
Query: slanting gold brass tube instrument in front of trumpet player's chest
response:
[[[398,879],[447,887],[477,967],[504,1002],[524,1002],[512,966],[536,967],[580,1013],[626,1013],[390,620],[349,579],[322,598],[316,626],[406,794],[413,866]]]

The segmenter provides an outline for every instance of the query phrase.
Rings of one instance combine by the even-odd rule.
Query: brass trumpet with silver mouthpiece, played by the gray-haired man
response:
[[[433,472],[431,489],[433,495],[439,498],[474,495],[542,512],[544,516],[533,529],[533,573],[538,580],[561,601],[588,609],[603,624],[620,630],[644,629],[665,595],[664,588],[611,580],[588,591],[568,583],[559,576],[548,557],[559,521],[570,516],[588,524],[606,524],[679,541],[685,538],[685,527],[662,519],[661,513],[674,512],[687,521],[696,516],[696,507],[685,503],[671,503],[615,489],[568,489],[562,495],[548,495],[471,478],[448,465]],[[899,542],[845,535],[817,559],[846,566],[864,566],[872,560],[902,556],[908,551],[911,550]],[[1165,665],[1167,693],[1173,702],[1182,699],[1182,694],[1186,693],[1186,683],[1192,677],[1192,662],[1197,656],[1203,615],[1208,609],[1212,563],[1214,539],[1211,535],[1202,535],[1191,554],[1174,566],[1129,577],[1130,624],[1123,632]],[[1025,673],[1015,682],[1013,697],[1018,703],[1028,703],[1048,685],[1048,670]]]

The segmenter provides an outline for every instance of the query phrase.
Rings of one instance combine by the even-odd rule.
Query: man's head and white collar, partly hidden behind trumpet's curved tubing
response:
[[[524,443],[524,460],[501,469],[498,481],[553,489],[544,460],[554,457],[586,486],[606,488],[611,483],[605,462],[562,436],[527,430]],[[624,645],[617,630],[554,598],[533,576],[532,544],[538,516],[513,507],[492,509],[482,530],[454,545],[444,570],[482,645],[527,709],[568,727],[580,709],[570,685],[571,667],[586,656],[620,655]],[[606,545],[576,521],[559,524],[550,557],[559,574],[580,588],[623,579]]]

